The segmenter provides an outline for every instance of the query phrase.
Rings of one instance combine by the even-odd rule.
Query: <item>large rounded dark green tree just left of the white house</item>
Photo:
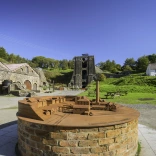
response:
[[[136,66],[137,71],[145,72],[148,64],[149,64],[149,59],[147,56],[139,57]]]

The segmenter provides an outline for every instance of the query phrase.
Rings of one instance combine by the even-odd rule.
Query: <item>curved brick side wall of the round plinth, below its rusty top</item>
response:
[[[138,119],[95,128],[66,128],[18,119],[21,156],[135,156]]]

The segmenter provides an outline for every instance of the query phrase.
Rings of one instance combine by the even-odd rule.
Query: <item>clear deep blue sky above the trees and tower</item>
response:
[[[0,46],[28,59],[156,53],[156,0],[1,0]]]

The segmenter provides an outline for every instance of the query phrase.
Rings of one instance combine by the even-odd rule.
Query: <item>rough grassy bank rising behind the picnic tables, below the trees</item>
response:
[[[100,92],[128,91],[128,92],[156,92],[156,77],[132,74],[121,78],[107,78],[100,82]],[[95,89],[95,82],[90,84],[89,89]]]

